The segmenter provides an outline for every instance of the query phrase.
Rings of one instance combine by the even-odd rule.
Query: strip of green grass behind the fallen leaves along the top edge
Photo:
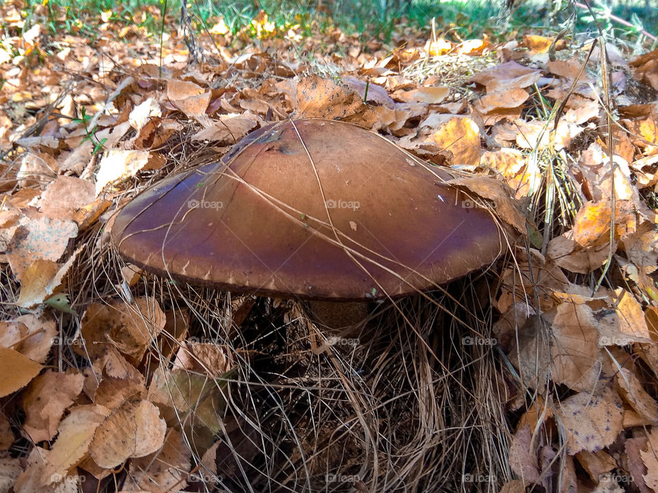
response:
[[[437,21],[439,34],[452,32],[464,39],[487,33],[493,40],[506,40],[525,27],[541,29],[550,35],[567,26],[574,13],[567,0],[516,0],[511,14],[501,12],[502,0],[324,0],[330,12],[318,8],[318,0],[260,0],[259,3],[269,20],[278,27],[300,25],[302,34],[308,35],[312,27],[324,31],[336,25],[348,34],[358,33],[364,39],[378,37],[387,41],[396,30],[407,25],[428,31],[432,18]],[[637,38],[642,29],[658,33],[658,0],[593,0],[592,4],[598,22],[613,37]],[[145,27],[149,33],[158,36],[163,10],[160,0],[121,3],[114,0],[49,0],[45,6],[42,1],[26,0],[24,5],[27,27],[41,22],[53,33],[62,34],[73,31],[77,25],[81,34],[90,37],[95,36],[94,26],[101,23],[101,12],[107,11],[112,11],[112,22]],[[561,5],[561,8],[557,8],[553,15],[550,10],[555,5]],[[181,0],[168,1],[167,14],[170,17],[164,29],[175,28],[180,8]],[[135,21],[134,14],[144,9],[149,10],[149,15],[144,21]],[[253,0],[188,2],[188,12],[199,31],[212,27],[223,18],[235,33],[248,26],[258,10]],[[576,8],[575,14],[576,24],[570,26],[570,30],[596,31],[587,10]],[[624,25],[624,21],[631,25]]]

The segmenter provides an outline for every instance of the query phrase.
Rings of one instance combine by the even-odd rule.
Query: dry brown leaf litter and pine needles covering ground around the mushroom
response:
[[[212,27],[201,64],[135,26],[106,23],[95,47],[5,33],[0,488],[658,492],[657,51],[606,45],[605,127],[591,39],[407,31],[387,47],[276,34],[264,13],[250,26]],[[399,301],[350,346],[295,301],[177,285],[112,252],[138,191],[293,116],[472,173],[452,185],[513,227],[511,255],[434,303]]]

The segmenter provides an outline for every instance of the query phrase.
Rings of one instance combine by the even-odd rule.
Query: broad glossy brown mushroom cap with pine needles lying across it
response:
[[[308,118],[249,134],[119,212],[123,257],[193,284],[304,299],[428,290],[504,251],[491,213],[374,132]]]

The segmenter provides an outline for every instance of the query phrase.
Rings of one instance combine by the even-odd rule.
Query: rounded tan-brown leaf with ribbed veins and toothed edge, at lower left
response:
[[[97,427],[89,453],[102,468],[112,469],[130,457],[154,453],[164,443],[167,424],[149,401],[127,401]]]

